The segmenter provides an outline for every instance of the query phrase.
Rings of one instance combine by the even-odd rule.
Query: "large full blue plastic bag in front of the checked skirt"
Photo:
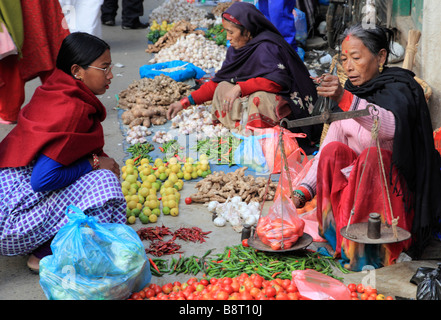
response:
[[[52,255],[40,261],[40,285],[49,300],[123,300],[150,282],[144,245],[130,226],[98,223],[75,206],[66,215]]]

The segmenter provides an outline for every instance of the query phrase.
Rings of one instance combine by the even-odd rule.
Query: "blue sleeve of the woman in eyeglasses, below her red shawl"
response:
[[[90,171],[92,166],[86,158],[66,167],[41,154],[32,171],[31,186],[35,192],[61,189]]]

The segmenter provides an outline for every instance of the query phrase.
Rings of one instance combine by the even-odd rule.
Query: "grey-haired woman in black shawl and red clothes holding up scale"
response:
[[[331,123],[294,191],[297,208],[317,195],[320,234],[353,271],[389,266],[403,252],[418,259],[440,228],[441,158],[430,112],[415,75],[385,66],[392,36],[389,29],[362,24],[345,31],[341,62],[348,80],[343,87],[338,77],[325,75],[318,94],[344,112],[375,110],[372,116]],[[411,239],[362,244],[342,236],[349,222],[366,223],[371,213],[380,214],[384,228],[397,225]]]

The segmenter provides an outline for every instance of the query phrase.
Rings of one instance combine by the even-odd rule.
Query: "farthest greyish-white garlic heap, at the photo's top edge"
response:
[[[164,21],[168,23],[178,22],[181,20],[190,21],[192,24],[206,28],[208,23],[213,20],[206,19],[207,11],[199,9],[194,3],[187,0],[167,0],[159,7],[153,9],[149,16],[149,21]]]

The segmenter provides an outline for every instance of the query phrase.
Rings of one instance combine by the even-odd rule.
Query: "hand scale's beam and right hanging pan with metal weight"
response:
[[[330,101],[325,98],[325,109],[319,116],[309,117],[305,119],[292,120],[282,119],[280,126],[283,128],[296,128],[304,127],[314,124],[330,124],[334,121],[354,119],[358,117],[365,117],[373,115],[374,124],[371,130],[372,139],[376,142],[376,149],[378,155],[378,161],[381,171],[381,183],[383,187],[383,199],[388,201],[390,220],[392,223],[382,222],[379,213],[373,212],[369,214],[367,222],[354,223],[351,224],[352,217],[355,214],[355,203],[358,195],[358,189],[356,190],[356,195],[354,199],[354,206],[351,210],[351,214],[348,220],[347,226],[339,230],[340,234],[351,241],[361,244],[390,244],[406,241],[411,238],[410,232],[398,227],[398,219],[394,218],[392,212],[392,205],[389,198],[389,189],[387,188],[387,179],[384,170],[383,159],[380,152],[380,144],[378,140],[378,130],[379,130],[379,117],[378,110],[372,104],[369,104],[366,109],[348,112],[331,112],[330,111]],[[370,149],[369,149],[370,150]],[[368,155],[369,156],[369,155]],[[367,157],[368,157],[367,156]],[[367,159],[366,157],[366,159]],[[362,181],[363,173],[366,168],[366,164],[363,164],[363,172],[360,178],[359,186]],[[385,211],[387,212],[387,210]]]

